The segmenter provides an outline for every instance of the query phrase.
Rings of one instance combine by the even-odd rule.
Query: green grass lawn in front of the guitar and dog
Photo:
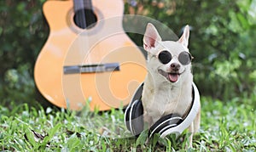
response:
[[[201,130],[193,149],[185,149],[189,132],[177,140],[147,132],[132,138],[123,110],[79,112],[35,109],[27,104],[0,106],[0,151],[256,151],[256,97],[221,102],[201,98]],[[15,104],[15,103],[12,103]]]

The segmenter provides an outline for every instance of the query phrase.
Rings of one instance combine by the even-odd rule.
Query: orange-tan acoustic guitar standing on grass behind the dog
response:
[[[129,104],[147,71],[143,53],[123,30],[123,1],[49,0],[43,11],[49,37],[34,78],[44,98],[70,110]]]

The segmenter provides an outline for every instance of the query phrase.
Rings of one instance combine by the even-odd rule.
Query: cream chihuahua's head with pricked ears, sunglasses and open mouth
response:
[[[157,82],[183,82],[191,74],[189,53],[189,25],[186,25],[182,37],[177,42],[161,41],[154,25],[148,23],[143,47],[148,52],[148,72]]]

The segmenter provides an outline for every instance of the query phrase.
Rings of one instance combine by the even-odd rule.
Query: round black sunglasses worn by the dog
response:
[[[166,50],[161,51],[156,57],[160,60],[160,63],[164,65],[172,60],[172,54]],[[177,59],[182,65],[189,65],[194,57],[189,52],[183,51],[178,54]]]

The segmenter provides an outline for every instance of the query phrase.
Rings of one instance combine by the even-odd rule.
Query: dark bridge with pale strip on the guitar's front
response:
[[[64,66],[64,74],[99,73],[120,70],[119,63]]]

